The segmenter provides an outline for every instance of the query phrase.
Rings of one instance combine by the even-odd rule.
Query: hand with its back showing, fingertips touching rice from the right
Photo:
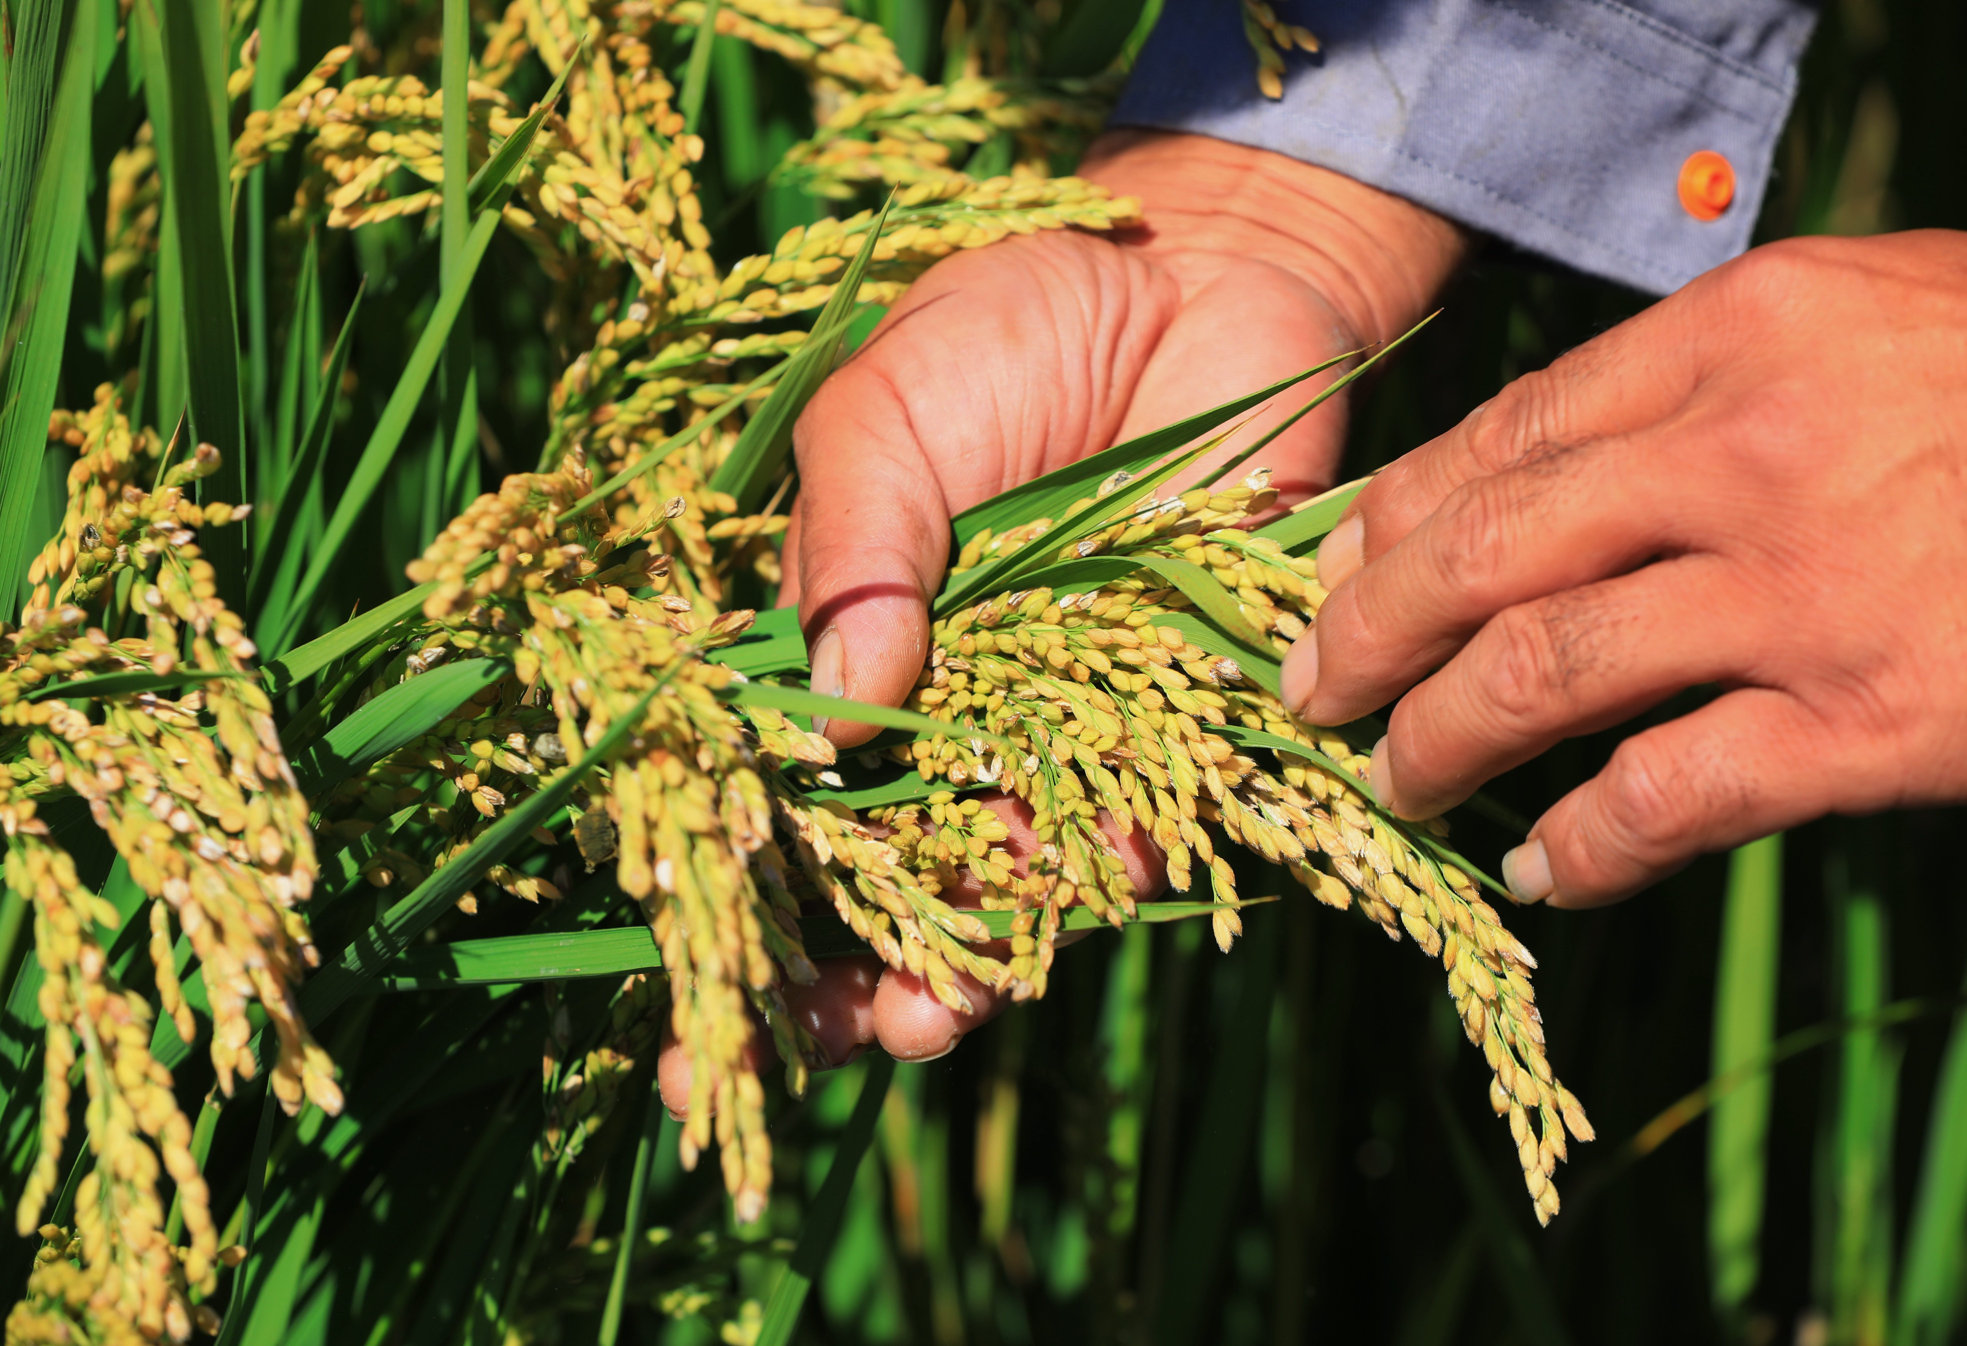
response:
[[[1412,687],[1373,785],[1430,817],[1719,685],[1505,858],[1558,905],[1823,813],[1967,799],[1963,277],[1957,232],[1772,244],[1517,380],[1326,539],[1286,701],[1340,724]]]

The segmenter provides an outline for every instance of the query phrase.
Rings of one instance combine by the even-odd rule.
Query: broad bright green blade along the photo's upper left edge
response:
[[[83,0],[71,24],[63,22],[63,10],[59,0],[41,0],[16,12],[18,81],[10,81],[16,96],[6,104],[6,153],[0,157],[0,185],[20,193],[0,199],[0,228],[12,236],[0,238],[8,244],[0,252],[0,293],[20,299],[20,311],[0,305],[0,327],[20,342],[0,350],[6,366],[0,370],[6,398],[0,405],[0,614],[6,618],[20,610],[28,563],[45,541],[31,535],[28,520],[47,451],[47,417],[55,409],[89,193],[96,6]],[[63,41],[71,59],[59,61],[57,77]],[[43,98],[51,98],[45,136]]]

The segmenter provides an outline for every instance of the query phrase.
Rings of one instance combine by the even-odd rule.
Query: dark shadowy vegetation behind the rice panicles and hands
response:
[[[942,75],[942,0],[848,8],[883,22],[923,75]],[[303,14],[305,65],[346,35],[346,10],[323,0]],[[437,6],[364,0],[360,22],[376,49],[415,53],[419,33],[435,43]],[[102,169],[142,118],[132,92],[118,124],[114,79],[106,91],[89,207],[96,248]],[[539,91],[521,81],[511,92]],[[720,39],[704,130],[706,216],[720,260],[818,216],[820,203],[763,181],[779,152],[810,132],[806,92],[783,63]],[[269,213],[287,201],[291,173],[275,169],[260,189]],[[1967,226],[1967,10],[1957,0],[1827,4],[1760,236],[1912,226]],[[346,403],[332,492],[332,472],[356,457],[435,297],[435,240],[399,222],[325,244],[330,313],[346,311],[360,275],[372,281],[356,348],[358,366],[376,372]],[[264,246],[266,272],[291,274],[301,240],[271,230]],[[89,289],[90,262],[85,254],[59,405],[87,405],[96,382],[142,358],[106,344],[102,323],[90,331],[89,315],[106,321],[112,305]],[[275,346],[287,301],[260,301]],[[1367,470],[1424,443],[1642,303],[1576,275],[1477,262],[1448,295],[1446,315],[1363,399],[1351,466]],[[502,236],[474,297],[486,480],[529,468],[543,443],[547,392],[570,354],[551,333],[541,336],[549,307],[545,277]],[[1865,378],[1861,360],[1853,356],[1851,378]],[[146,419],[155,419],[153,407]],[[437,521],[419,480],[411,464],[386,492],[372,520],[376,545],[350,553],[323,612],[403,586],[403,563]],[[1534,817],[1603,764],[1617,738],[1566,744],[1499,781],[1495,795]],[[1511,842],[1475,819],[1461,828],[1485,862]],[[1961,813],[1932,811],[1829,821],[1786,838],[1778,1033],[1841,1019],[1853,1006],[1851,950],[1839,935],[1853,903],[1888,917],[1882,1000],[1955,996],[1967,960],[1961,834]],[[1851,1295],[1894,1293],[1894,1248],[1918,1198],[1953,1029],[1949,1004],[1861,1035],[1896,1063],[1896,1108],[1861,1155],[1888,1175],[1877,1200],[1853,1202],[1839,1181],[1839,1165],[1855,1161],[1839,1139],[1853,1106],[1843,1076],[1851,1035],[1776,1071],[1760,1277],[1745,1305],[1713,1305],[1705,1128],[1686,1126],[1644,1157],[1625,1147],[1711,1074],[1727,882],[1727,860],[1709,858],[1617,909],[1507,913],[1542,960],[1552,1061],[1599,1132],[1560,1171],[1566,1210],[1550,1230],[1530,1216],[1507,1130],[1485,1104],[1487,1072],[1460,1037],[1440,970],[1251,870],[1247,893],[1286,899],[1251,913],[1229,956],[1196,923],[1094,937],[1060,956],[1043,1004],[978,1031],[944,1061],[899,1071],[803,1336],[934,1346],[1912,1340],[1890,1326],[1890,1313],[1886,1326],[1865,1326]],[[352,1019],[328,1043],[352,1069],[364,1027]],[[506,1039],[537,1041],[541,1027],[515,1019]],[[775,1100],[783,1171],[773,1232],[797,1232],[801,1194],[816,1191],[860,1078],[850,1067],[806,1102]],[[413,1220],[419,1155],[468,1143],[500,1108],[533,1106],[529,1096],[513,1102],[504,1078],[470,1071],[425,1104],[387,1153],[364,1161],[364,1181],[374,1181],[336,1196],[350,1206],[330,1212],[338,1238]],[[250,1132],[250,1118],[220,1124],[214,1171],[216,1157],[226,1157],[224,1171],[244,1171]],[[683,1175],[673,1130],[665,1139],[653,1218],[679,1236],[720,1228],[728,1214],[716,1165]],[[364,1208],[364,1193],[386,1187],[397,1208]],[[490,1206],[472,1210],[484,1206],[490,1218],[498,1198],[490,1191]],[[236,1191],[214,1191],[218,1210],[234,1200]],[[462,1214],[468,1228],[472,1216]],[[606,1210],[596,1216],[608,1224]],[[1839,1242],[1839,1232],[1851,1230],[1873,1250],[1855,1291],[1839,1281],[1839,1248],[1857,1238]],[[765,1255],[742,1263],[751,1293],[767,1289],[777,1265]],[[340,1326],[362,1340],[354,1324]],[[325,1340],[342,1340],[340,1326],[323,1328]],[[714,1338],[696,1320],[643,1311],[629,1330],[677,1346]]]

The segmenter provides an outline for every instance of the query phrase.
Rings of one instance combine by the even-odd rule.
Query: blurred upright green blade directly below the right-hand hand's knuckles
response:
[[[1713,1072],[1768,1055],[1782,950],[1782,836],[1729,860],[1715,974]],[[1715,1311],[1737,1322],[1760,1273],[1772,1080],[1760,1074],[1719,1100],[1707,1122],[1707,1265]]]

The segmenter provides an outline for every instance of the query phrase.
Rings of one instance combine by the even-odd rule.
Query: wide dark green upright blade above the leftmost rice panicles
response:
[[[230,157],[224,100],[224,20],[216,0],[155,2],[169,65],[169,155],[159,155],[163,195],[177,226],[183,281],[185,374],[199,443],[218,449],[218,470],[199,484],[201,500],[246,502],[246,429],[240,407],[240,340],[232,293],[230,197],[222,165]],[[146,87],[148,89],[148,87]],[[155,104],[157,92],[149,92]],[[218,594],[238,610],[246,600],[246,529],[201,537]]]

